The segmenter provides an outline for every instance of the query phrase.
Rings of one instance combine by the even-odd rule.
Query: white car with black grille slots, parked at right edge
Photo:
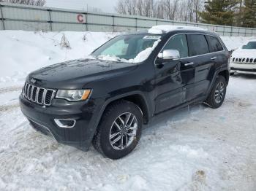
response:
[[[234,50],[230,59],[230,74],[256,74],[256,39]]]

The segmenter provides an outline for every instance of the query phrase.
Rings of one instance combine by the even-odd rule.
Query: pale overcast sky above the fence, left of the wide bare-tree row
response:
[[[66,9],[83,9],[86,10],[87,4],[89,10],[96,7],[102,12],[115,12],[115,5],[118,0],[46,0],[46,7],[59,7]]]

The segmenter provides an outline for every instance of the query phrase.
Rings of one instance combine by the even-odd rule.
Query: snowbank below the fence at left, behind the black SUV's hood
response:
[[[53,63],[86,58],[117,33],[0,31],[0,82],[16,82]]]

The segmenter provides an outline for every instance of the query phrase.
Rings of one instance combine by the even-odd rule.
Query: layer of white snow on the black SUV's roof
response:
[[[160,26],[152,26],[148,29],[149,34],[164,34],[170,31],[174,31],[177,29],[191,29],[191,30],[203,30],[206,31],[205,28],[195,27],[195,26],[170,26],[170,25],[160,25]]]

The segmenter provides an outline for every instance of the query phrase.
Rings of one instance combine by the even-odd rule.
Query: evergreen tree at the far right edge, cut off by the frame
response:
[[[256,0],[245,0],[242,9],[242,26],[256,27]]]

